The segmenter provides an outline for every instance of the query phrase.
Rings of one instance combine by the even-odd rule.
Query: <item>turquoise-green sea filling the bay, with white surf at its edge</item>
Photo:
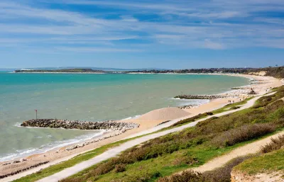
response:
[[[236,76],[192,74],[13,74],[0,72],[0,161],[86,140],[100,131],[18,127],[24,120],[121,120],[168,106],[180,93],[212,94],[244,86]]]

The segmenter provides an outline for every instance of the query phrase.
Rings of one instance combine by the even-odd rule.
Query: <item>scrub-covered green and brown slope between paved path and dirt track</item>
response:
[[[195,127],[149,140],[62,181],[175,181],[177,172],[200,166],[236,147],[282,130],[284,86],[276,91],[260,98],[252,108],[210,118]],[[228,181],[228,173],[237,164],[239,162],[232,162],[225,166],[226,170],[217,169],[207,176],[218,174],[224,176],[220,180]],[[197,178],[212,181],[208,177],[202,179],[206,175],[195,172],[179,175],[178,178],[190,176],[185,178],[187,181],[197,181]]]

